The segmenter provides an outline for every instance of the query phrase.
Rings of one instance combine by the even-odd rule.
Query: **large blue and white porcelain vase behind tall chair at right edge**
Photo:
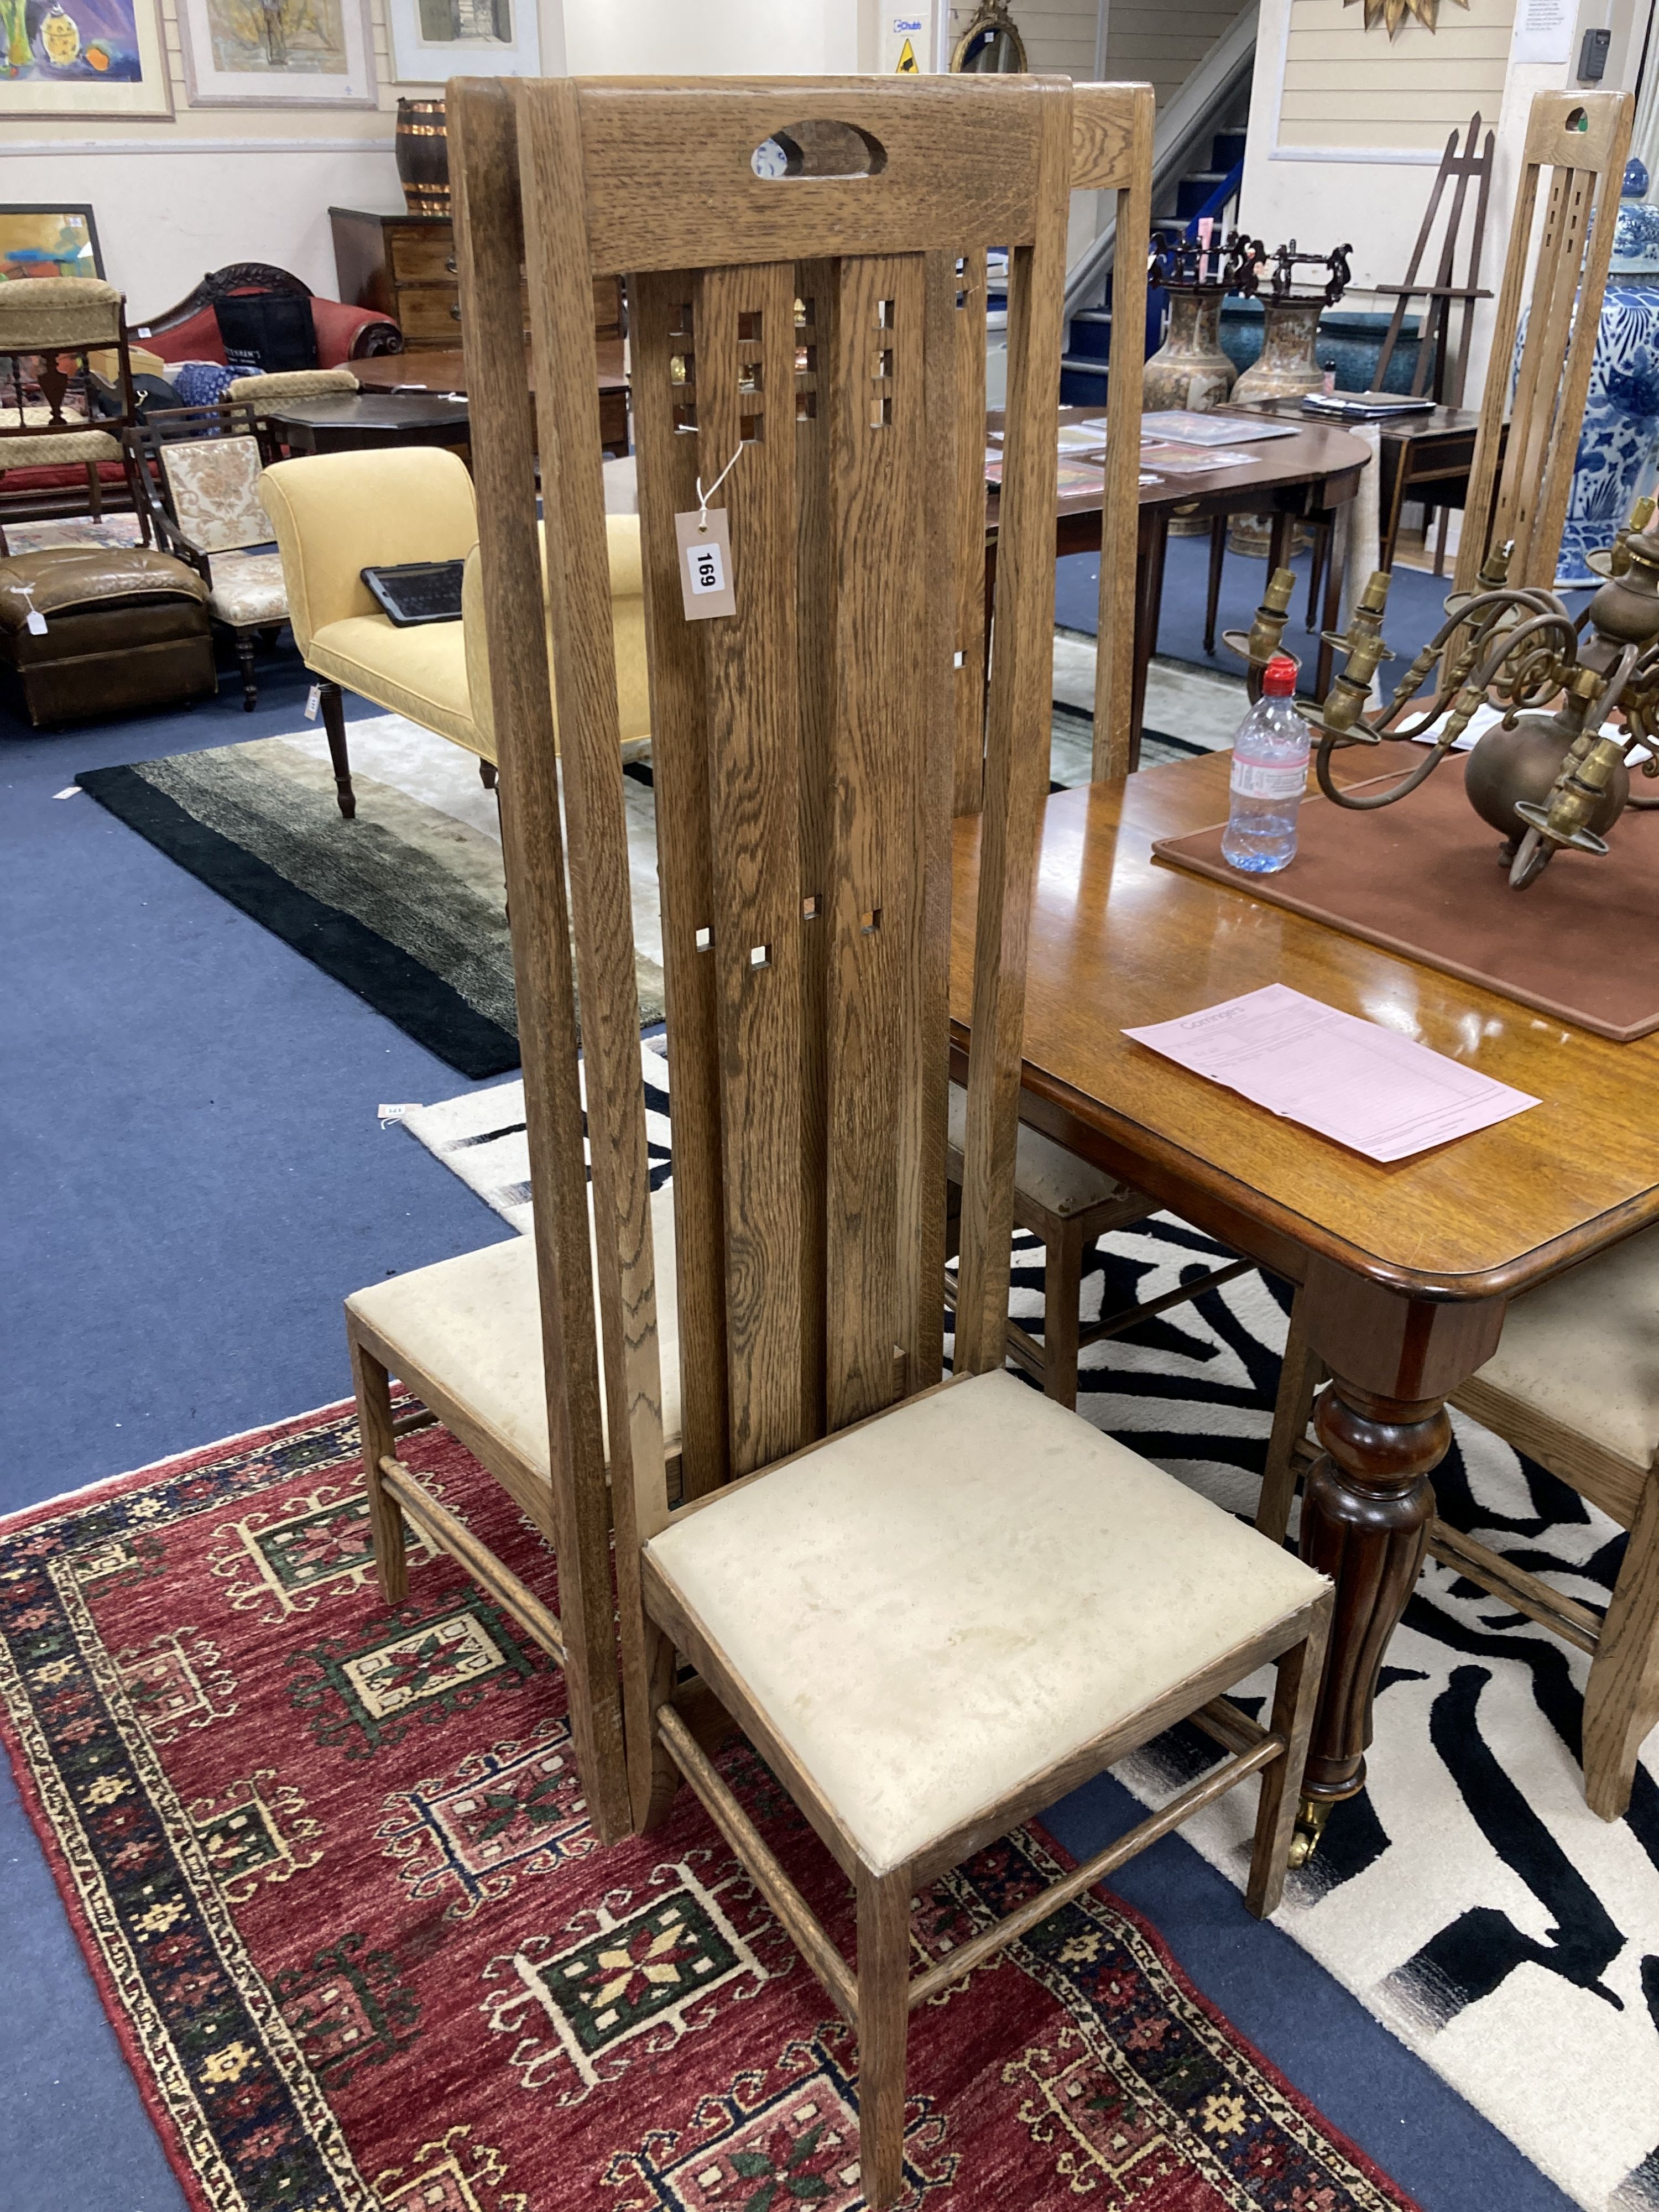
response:
[[[1652,484],[1659,453],[1659,208],[1646,204],[1646,190],[1648,170],[1630,159],[1613,230],[1557,584],[1601,582],[1584,555],[1613,544],[1637,495]]]

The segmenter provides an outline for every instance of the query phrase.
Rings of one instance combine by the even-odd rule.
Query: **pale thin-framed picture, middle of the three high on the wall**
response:
[[[179,0],[179,38],[192,108],[374,106],[367,0]]]

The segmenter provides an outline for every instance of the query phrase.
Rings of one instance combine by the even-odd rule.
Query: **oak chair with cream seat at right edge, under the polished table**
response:
[[[1318,1455],[1307,1420],[1321,1380],[1292,1307],[1256,1511],[1256,1528],[1276,1542],[1296,1478]],[[1517,1298],[1498,1352],[1449,1402],[1630,1531],[1601,1615],[1478,1537],[1429,1522],[1431,1557],[1590,1655],[1584,1796],[1590,1812],[1619,1820],[1659,1721],[1659,1230]]]

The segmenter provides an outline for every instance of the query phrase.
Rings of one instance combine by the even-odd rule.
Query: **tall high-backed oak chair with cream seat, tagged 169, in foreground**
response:
[[[604,1374],[635,1818],[664,1818],[690,1781],[856,2026],[872,2205],[902,2185],[909,2008],[1254,1772],[1250,1905],[1272,1909],[1329,1615],[1327,1584],[1301,1562],[1002,1371],[1068,184],[1075,170],[1126,181],[1148,102],[1146,86],[1073,100],[1064,80],[449,88],[509,896],[520,973],[540,969],[542,991],[524,1079],[546,1367],[564,1378],[557,1480],[573,1520],[604,1511]],[[504,281],[518,272],[513,173],[602,1363],[571,1015],[551,1004],[564,854]],[[949,365],[991,243],[1011,248],[1006,460],[956,1376],[940,1383],[960,641],[936,524],[958,471],[982,469],[982,418],[964,418]],[[591,374],[593,279],[617,272],[661,823],[675,1285],[657,1272],[648,1206]],[[681,580],[710,566],[719,611],[690,619]],[[677,1509],[661,1356],[675,1296]],[[1219,1692],[1265,1659],[1279,1692],[1259,1730]],[[918,1885],[1192,1712],[1232,1752],[1219,1770],[909,1978]],[[856,1969],[710,1763],[723,1721],[852,1878]]]

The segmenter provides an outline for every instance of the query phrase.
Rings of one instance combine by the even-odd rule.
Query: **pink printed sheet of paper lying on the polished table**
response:
[[[1126,1037],[1367,1159],[1409,1159],[1537,1099],[1281,982]]]

